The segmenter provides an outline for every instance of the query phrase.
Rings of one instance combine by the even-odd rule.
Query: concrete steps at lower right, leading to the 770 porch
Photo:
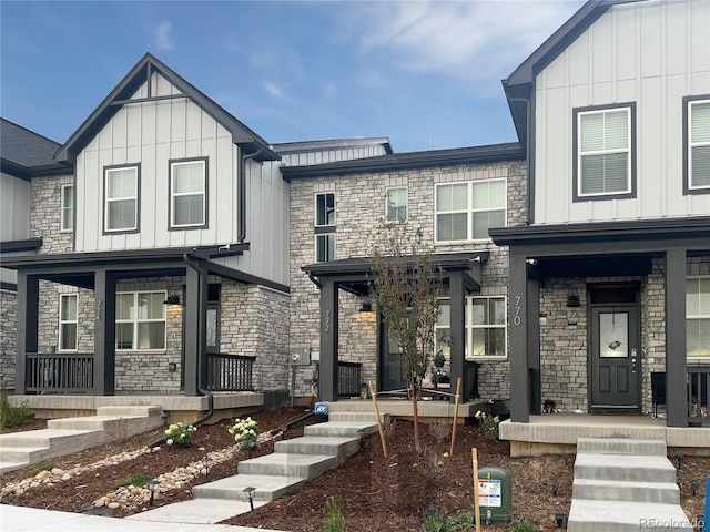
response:
[[[666,442],[580,438],[569,532],[691,531]]]

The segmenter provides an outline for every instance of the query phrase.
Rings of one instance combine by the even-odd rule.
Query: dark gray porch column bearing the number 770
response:
[[[528,377],[528,298],[525,255],[510,247],[508,328],[510,330],[510,420],[530,420]]]

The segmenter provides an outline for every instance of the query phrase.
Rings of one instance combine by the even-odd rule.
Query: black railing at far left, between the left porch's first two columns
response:
[[[93,390],[93,355],[28,352],[24,390],[30,393],[91,392]]]

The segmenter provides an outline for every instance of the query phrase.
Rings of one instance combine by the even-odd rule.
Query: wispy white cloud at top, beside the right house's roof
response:
[[[347,38],[410,72],[440,73],[499,90],[499,81],[579,9],[581,0],[363,2]],[[351,4],[353,6],[353,4]]]

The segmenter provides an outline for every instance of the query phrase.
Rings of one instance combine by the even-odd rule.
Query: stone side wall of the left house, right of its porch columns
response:
[[[255,389],[288,389],[288,294],[225,282],[221,305],[221,351],[256,357]]]

